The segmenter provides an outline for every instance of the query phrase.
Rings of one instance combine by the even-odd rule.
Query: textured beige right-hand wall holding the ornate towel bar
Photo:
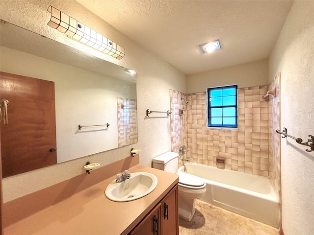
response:
[[[281,72],[281,128],[314,135],[314,1],[294,1],[269,57],[269,81]],[[314,152],[281,139],[282,228],[285,235],[314,233]],[[311,221],[311,222],[310,222]]]

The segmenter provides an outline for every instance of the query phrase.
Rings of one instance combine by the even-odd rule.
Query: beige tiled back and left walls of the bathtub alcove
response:
[[[226,158],[226,169],[269,176],[267,85],[238,88],[238,128],[206,127],[206,92],[183,94],[170,90],[172,151],[187,145],[191,162],[216,166]],[[181,97],[189,101],[187,104]],[[183,109],[179,116],[177,109]]]

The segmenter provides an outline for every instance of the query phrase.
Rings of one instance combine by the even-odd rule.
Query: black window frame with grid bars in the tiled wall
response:
[[[212,90],[224,90],[224,89],[230,89],[230,88],[235,88],[235,105],[223,105],[221,104],[221,106],[210,106],[210,91]],[[234,84],[234,85],[227,85],[227,86],[217,86],[217,87],[209,87],[206,89],[206,96],[207,96],[207,128],[218,128],[218,129],[237,129],[238,128],[238,93],[237,93],[237,84]],[[227,95],[225,95],[226,97]],[[224,95],[221,94],[221,97],[224,97]],[[211,124],[211,117],[210,114],[211,114],[211,109],[212,108],[235,108],[235,125],[224,125],[223,122],[222,122],[222,125],[212,125]],[[223,116],[223,113],[221,114],[221,118],[224,118]],[[225,116],[228,118],[228,116]]]

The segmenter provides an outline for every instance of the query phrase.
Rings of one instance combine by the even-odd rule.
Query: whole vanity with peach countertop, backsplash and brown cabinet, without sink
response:
[[[179,235],[179,175],[143,166],[138,162],[139,155],[136,154],[134,157],[100,167],[87,177],[86,174],[81,174],[2,204],[3,233],[157,235],[157,232],[154,234],[155,226],[156,230],[158,228],[158,235]],[[111,201],[104,193],[113,180],[110,174],[125,168],[126,164],[131,164],[131,172],[154,174],[158,179],[157,187],[147,196],[137,200]],[[90,210],[91,208],[93,210]],[[63,222],[60,223],[60,219],[51,219],[52,214]]]

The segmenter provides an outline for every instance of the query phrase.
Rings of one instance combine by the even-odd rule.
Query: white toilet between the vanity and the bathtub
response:
[[[153,158],[153,168],[179,175],[178,204],[179,217],[191,221],[195,213],[195,199],[206,192],[206,183],[199,177],[186,173],[178,173],[179,154],[167,152]]]

